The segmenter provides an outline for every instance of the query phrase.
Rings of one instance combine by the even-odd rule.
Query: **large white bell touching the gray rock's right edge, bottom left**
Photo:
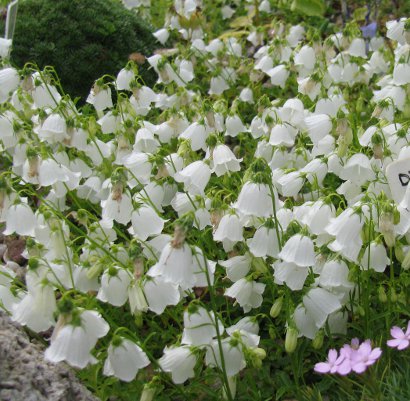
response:
[[[80,369],[97,363],[90,351],[109,329],[110,326],[98,312],[84,310],[68,323],[56,326],[51,344],[45,351],[45,359],[53,363],[66,361]]]

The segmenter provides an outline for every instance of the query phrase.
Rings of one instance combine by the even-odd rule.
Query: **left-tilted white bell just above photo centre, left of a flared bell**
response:
[[[191,195],[204,195],[205,187],[211,178],[211,169],[202,160],[197,160],[174,175],[177,182],[183,182]]]

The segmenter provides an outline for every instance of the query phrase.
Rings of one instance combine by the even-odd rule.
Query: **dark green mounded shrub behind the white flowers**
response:
[[[11,61],[55,67],[66,93],[87,96],[94,81],[116,75],[130,54],[156,47],[148,24],[116,0],[20,0]],[[149,83],[147,64],[140,67]]]

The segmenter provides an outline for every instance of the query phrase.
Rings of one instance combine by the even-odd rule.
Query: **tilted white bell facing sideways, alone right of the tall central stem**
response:
[[[262,294],[265,287],[263,283],[257,283],[244,277],[227,288],[225,296],[235,298],[243,311],[248,313],[252,308],[259,308],[262,305]]]

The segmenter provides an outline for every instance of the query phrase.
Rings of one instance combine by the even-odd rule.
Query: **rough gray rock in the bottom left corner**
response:
[[[1,401],[98,401],[70,367],[45,361],[43,353],[0,311]]]

